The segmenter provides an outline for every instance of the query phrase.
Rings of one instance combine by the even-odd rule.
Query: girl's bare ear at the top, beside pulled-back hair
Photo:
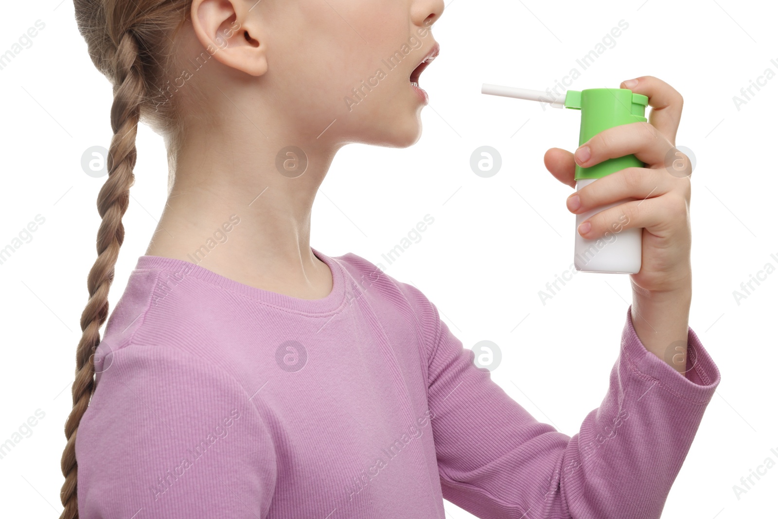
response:
[[[267,45],[261,37],[259,9],[245,0],[193,0],[192,26],[216,61],[249,75],[268,72]]]

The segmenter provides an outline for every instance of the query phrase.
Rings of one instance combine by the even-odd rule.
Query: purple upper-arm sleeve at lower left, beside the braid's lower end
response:
[[[166,346],[96,362],[76,433],[82,519],[258,519],[275,489],[272,437],[226,370]]]

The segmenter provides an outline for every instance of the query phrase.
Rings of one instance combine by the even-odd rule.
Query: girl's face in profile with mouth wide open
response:
[[[443,0],[262,0],[252,12],[267,44],[261,81],[274,119],[305,140],[411,146],[426,103],[412,75],[436,55],[430,27],[443,7]],[[423,88],[423,74],[416,81]]]

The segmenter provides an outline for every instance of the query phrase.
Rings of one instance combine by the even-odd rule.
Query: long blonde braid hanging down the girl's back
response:
[[[135,182],[132,173],[137,157],[135,136],[140,121],[140,107],[145,95],[142,60],[138,41],[131,30],[124,32],[114,59],[114,103],[110,108],[110,125],[114,130],[107,159],[108,178],[97,196],[97,211],[103,218],[97,232],[97,259],[89,271],[89,300],[81,314],[82,336],[75,356],[73,409],[65,423],[68,443],[62,453],[61,468],[65,475],[61,501],[65,507],[60,519],[78,519],[76,484],[78,464],[75,460],[75,435],[94,388],[93,352],[100,344],[100,326],[108,315],[108,290],[114,280],[114,266],[124,241],[121,218],[129,203],[129,190]]]

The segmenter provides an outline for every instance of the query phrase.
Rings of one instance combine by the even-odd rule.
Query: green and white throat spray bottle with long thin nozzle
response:
[[[489,85],[484,83],[482,93],[492,96],[506,96],[517,99],[548,103],[555,108],[580,110],[581,125],[578,146],[584,144],[598,133],[621,124],[637,121],[645,122],[648,97],[633,93],[629,89],[597,88],[567,90],[562,96],[549,96],[540,90],[527,90],[510,86]],[[576,191],[597,181],[598,178],[623,170],[627,167],[645,167],[634,155],[608,159],[592,167],[580,167],[576,164]],[[612,204],[591,209],[576,215],[576,242],[574,265],[581,272],[610,272],[636,274],[640,272],[640,259],[643,252],[643,229],[624,229],[629,223],[626,216],[610,223],[605,235],[587,240],[577,228],[584,220],[615,205],[630,202],[635,198],[625,198]]]

